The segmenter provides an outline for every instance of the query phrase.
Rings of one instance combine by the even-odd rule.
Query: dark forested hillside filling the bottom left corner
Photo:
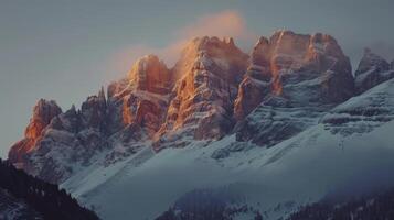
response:
[[[98,220],[64,189],[0,161],[0,218],[6,220]]]

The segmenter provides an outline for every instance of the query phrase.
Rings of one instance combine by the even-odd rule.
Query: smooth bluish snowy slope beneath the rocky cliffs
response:
[[[236,142],[235,135],[157,154],[145,147],[110,166],[95,164],[63,187],[93,206],[103,219],[121,220],[153,219],[195,188],[232,186],[244,196],[243,202],[275,219],[328,194],[359,194],[394,185],[393,84],[388,80],[350,99],[320,123],[269,148]],[[377,114],[361,119],[348,114],[359,120],[342,124],[327,120],[376,106],[390,110],[381,116],[386,120],[376,121]],[[358,129],[365,124],[371,127]],[[353,132],[338,132],[349,128]],[[213,156],[221,151],[225,157]],[[286,204],[292,206],[278,206]]]

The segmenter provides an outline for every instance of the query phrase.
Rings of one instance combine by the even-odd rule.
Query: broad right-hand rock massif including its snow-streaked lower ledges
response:
[[[274,145],[353,94],[349,58],[332,36],[276,32],[252,52],[234,107],[236,138]]]

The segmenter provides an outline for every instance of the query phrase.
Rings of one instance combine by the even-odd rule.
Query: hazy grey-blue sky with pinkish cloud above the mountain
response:
[[[354,66],[365,46],[394,58],[393,11],[393,0],[0,0],[0,156],[38,99],[79,105],[146,53],[171,64],[194,35],[246,50],[288,29],[333,35]]]

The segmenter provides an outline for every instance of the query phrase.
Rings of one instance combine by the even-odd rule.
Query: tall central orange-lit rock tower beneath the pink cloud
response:
[[[156,147],[182,146],[188,139],[217,140],[231,131],[233,101],[247,55],[232,38],[194,38],[175,64],[177,81]]]

